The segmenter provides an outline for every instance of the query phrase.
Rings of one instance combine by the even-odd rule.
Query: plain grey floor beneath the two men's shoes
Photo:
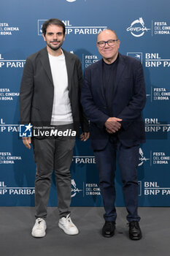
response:
[[[32,238],[34,208],[1,207],[1,256],[145,256],[170,255],[170,208],[139,208],[143,238],[128,238],[125,208],[117,208],[116,233],[112,238],[101,236],[103,208],[72,208],[72,220],[80,234],[68,236],[58,227],[58,210],[49,208],[47,236]]]

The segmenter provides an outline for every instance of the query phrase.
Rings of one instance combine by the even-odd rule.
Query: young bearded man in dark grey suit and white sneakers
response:
[[[50,19],[42,26],[47,47],[26,60],[20,86],[20,123],[34,127],[55,127],[61,132],[75,131],[81,140],[87,140],[88,121],[80,105],[82,69],[80,59],[61,49],[66,29],[61,20]],[[36,162],[35,207],[36,222],[32,236],[45,236],[47,203],[51,176],[55,171],[58,191],[58,226],[66,234],[76,235],[77,227],[70,218],[71,174],[75,137],[23,138],[27,148],[33,144]]]

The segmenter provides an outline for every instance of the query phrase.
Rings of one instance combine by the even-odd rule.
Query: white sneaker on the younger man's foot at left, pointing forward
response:
[[[46,228],[47,228],[47,225],[46,225],[45,219],[37,218],[34,224],[34,227],[32,229],[31,235],[34,237],[44,237]]]

